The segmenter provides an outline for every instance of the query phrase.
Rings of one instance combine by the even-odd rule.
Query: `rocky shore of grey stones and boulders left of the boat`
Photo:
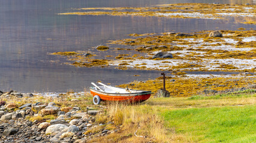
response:
[[[24,102],[33,94],[16,91],[0,92],[0,143],[3,142],[87,142],[94,136],[107,136],[118,132],[97,123],[95,115],[87,114],[80,107],[59,105],[55,102]],[[42,97],[41,97],[42,98]],[[61,97],[55,97],[61,98]],[[15,100],[14,100],[15,99]],[[17,102],[15,102],[17,101]],[[73,100],[77,102],[78,100]],[[113,125],[108,122],[107,125]],[[99,128],[92,132],[94,128]]]

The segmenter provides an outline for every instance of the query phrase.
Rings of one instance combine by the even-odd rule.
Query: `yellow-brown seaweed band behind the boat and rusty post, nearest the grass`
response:
[[[205,94],[205,91],[225,92],[254,85],[255,77],[167,77],[165,87],[171,97],[190,97]],[[149,86],[150,85],[150,86]],[[162,77],[144,82],[131,82],[121,87],[156,92],[162,88]],[[214,94],[214,92],[210,93]]]

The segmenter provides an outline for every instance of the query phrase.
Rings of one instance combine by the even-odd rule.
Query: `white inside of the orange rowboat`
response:
[[[102,91],[110,94],[130,94],[130,93],[140,93],[144,91],[138,91],[134,89],[123,89],[123,88],[118,88],[115,86],[98,86]],[[98,88],[93,87],[92,89],[96,91],[100,91]]]

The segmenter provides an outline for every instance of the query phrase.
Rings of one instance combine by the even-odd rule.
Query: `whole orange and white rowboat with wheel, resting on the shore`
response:
[[[143,102],[149,99],[151,91],[140,91],[128,88],[119,88],[116,86],[104,85],[99,82],[97,86],[92,82],[94,87],[90,88],[91,94],[94,96],[94,104],[100,104],[101,101],[121,101],[121,102]]]

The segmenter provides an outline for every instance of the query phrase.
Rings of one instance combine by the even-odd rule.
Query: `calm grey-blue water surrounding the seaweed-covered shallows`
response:
[[[130,33],[194,32],[198,30],[255,28],[236,19],[203,20],[163,17],[113,17],[107,15],[58,15],[70,8],[144,7],[156,4],[203,2],[255,4],[255,1],[170,1],[170,0],[0,0],[0,90],[83,91],[91,82],[118,85],[133,80],[153,79],[161,71],[77,68],[52,63],[49,52],[94,50],[109,40]],[[140,77],[134,77],[140,74]]]

